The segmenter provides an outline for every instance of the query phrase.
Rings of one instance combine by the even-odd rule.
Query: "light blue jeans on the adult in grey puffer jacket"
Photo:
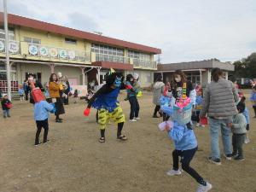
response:
[[[211,136],[211,157],[220,159],[219,146],[218,146],[218,132],[221,130],[222,142],[224,145],[224,154],[231,154],[231,139],[230,128],[227,126],[227,119],[213,119],[209,118],[210,136]]]

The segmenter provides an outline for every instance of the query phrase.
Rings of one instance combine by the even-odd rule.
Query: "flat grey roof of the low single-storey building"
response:
[[[157,66],[158,71],[176,71],[176,70],[195,70],[195,69],[211,69],[218,67],[225,71],[234,71],[235,67],[229,62],[221,62],[217,60],[204,60],[204,61],[190,61],[190,62],[179,62],[179,63],[169,63],[160,64]]]

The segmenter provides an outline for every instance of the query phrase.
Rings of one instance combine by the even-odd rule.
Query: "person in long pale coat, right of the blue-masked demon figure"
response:
[[[162,96],[165,90],[165,84],[161,76],[157,77],[153,89],[153,103],[155,105],[153,118],[158,118],[156,113],[160,113],[160,96]],[[160,116],[162,116],[162,113],[160,113]]]

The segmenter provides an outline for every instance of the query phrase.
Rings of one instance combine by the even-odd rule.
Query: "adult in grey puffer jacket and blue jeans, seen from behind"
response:
[[[219,68],[213,68],[212,82],[207,85],[204,92],[200,116],[205,117],[208,113],[212,148],[212,154],[208,160],[217,165],[221,164],[218,147],[219,130],[222,134],[224,155],[227,160],[231,160],[232,157],[230,128],[227,125],[236,114],[238,100],[235,85],[223,78],[223,72]]]

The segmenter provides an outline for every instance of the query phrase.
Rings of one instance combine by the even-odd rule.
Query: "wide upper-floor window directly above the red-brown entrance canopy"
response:
[[[91,52],[101,53],[101,54],[105,54],[105,55],[124,56],[124,49],[110,47],[108,45],[91,44],[91,49],[90,50],[91,50]]]

